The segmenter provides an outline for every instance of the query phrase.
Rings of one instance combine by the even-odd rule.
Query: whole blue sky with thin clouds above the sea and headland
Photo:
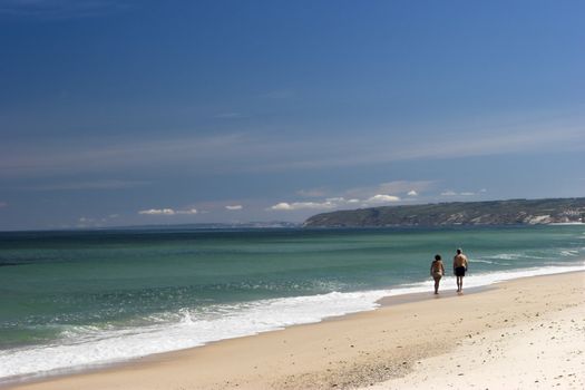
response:
[[[583,196],[583,14],[0,0],[0,230]]]

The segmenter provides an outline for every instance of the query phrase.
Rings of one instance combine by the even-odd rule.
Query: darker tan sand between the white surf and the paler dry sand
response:
[[[545,314],[571,308],[583,309],[584,285],[585,272],[572,272],[507,281],[461,296],[446,291],[438,300],[425,293],[391,296],[376,311],[223,340],[81,373],[7,383],[3,388],[370,386],[416,371],[426,358],[450,353],[460,342],[458,334],[479,335],[494,329],[526,325]],[[581,320],[585,321],[583,316]]]

